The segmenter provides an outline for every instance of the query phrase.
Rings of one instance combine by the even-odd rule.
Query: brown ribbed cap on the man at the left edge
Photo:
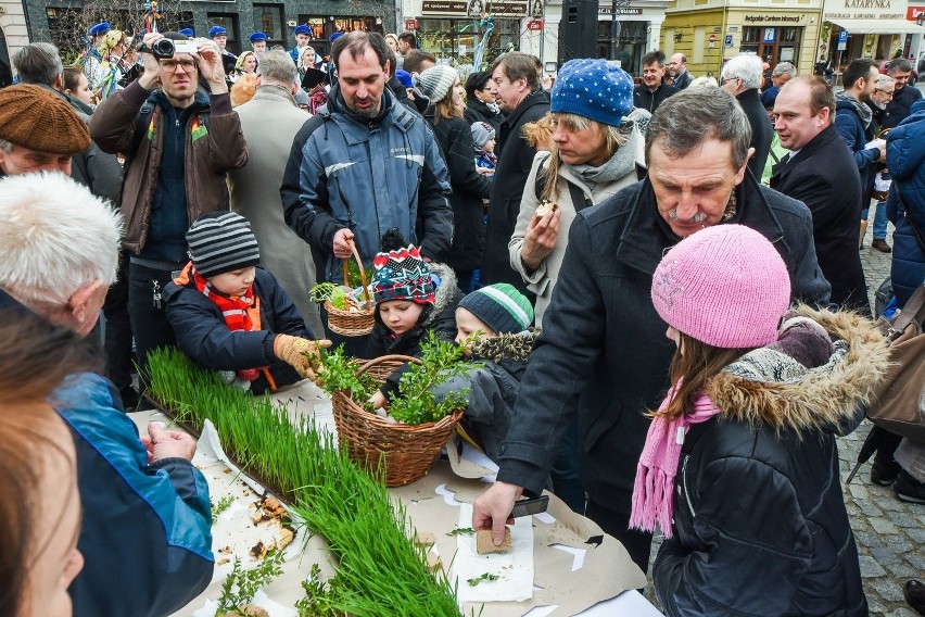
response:
[[[26,84],[0,90],[0,139],[50,154],[76,154],[90,148],[87,123],[67,101]]]

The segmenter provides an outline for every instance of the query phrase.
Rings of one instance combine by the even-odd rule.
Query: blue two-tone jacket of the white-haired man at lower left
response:
[[[74,436],[84,509],[84,570],[68,592],[76,617],[169,615],[212,580],[208,484],[183,458],[148,464],[114,386],[73,375],[54,407]]]

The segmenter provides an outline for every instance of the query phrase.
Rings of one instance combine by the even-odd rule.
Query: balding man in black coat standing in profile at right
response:
[[[870,315],[858,253],[861,176],[833,124],[835,96],[819,77],[796,77],[781,88],[774,114],[781,144],[797,153],[774,167],[771,188],[802,201],[812,212],[815,252],[832,284],[832,301]]]

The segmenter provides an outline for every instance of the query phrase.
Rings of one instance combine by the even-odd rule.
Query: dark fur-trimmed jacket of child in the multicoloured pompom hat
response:
[[[369,333],[369,342],[366,347],[366,357],[373,360],[383,355],[410,355],[418,357],[421,354],[421,341],[432,331],[436,338],[452,341],[456,338],[456,307],[463,300],[463,292],[456,282],[456,275],[449,266],[443,264],[430,264],[431,270],[440,278],[440,287],[436,288],[436,298],[433,306],[428,307],[418,318],[414,329],[403,332],[397,337],[389,329],[376,310],[376,322],[372,332]],[[407,369],[407,365],[398,367],[385,379],[379,390],[383,394],[392,394],[398,391],[398,381]]]

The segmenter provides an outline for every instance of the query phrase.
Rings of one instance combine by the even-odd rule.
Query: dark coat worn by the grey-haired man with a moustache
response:
[[[807,207],[746,176],[731,223],[774,242],[791,295],[827,302]],[[566,428],[578,416],[579,452],[591,499],[629,514],[649,419],[668,387],[674,343],[651,301],[652,274],[680,241],[658,214],[648,179],[582,210],[543,317],[500,450],[498,480],[543,490]],[[578,405],[569,404],[579,396]]]

